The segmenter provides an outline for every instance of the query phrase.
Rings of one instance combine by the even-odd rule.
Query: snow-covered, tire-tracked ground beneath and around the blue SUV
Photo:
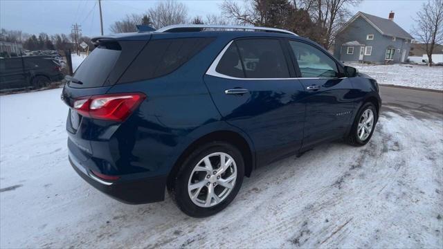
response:
[[[442,248],[443,119],[383,112],[371,142],[262,167],[226,210],[126,205],[69,165],[62,89],[0,97],[0,248]],[[149,190],[147,190],[149,191]]]

